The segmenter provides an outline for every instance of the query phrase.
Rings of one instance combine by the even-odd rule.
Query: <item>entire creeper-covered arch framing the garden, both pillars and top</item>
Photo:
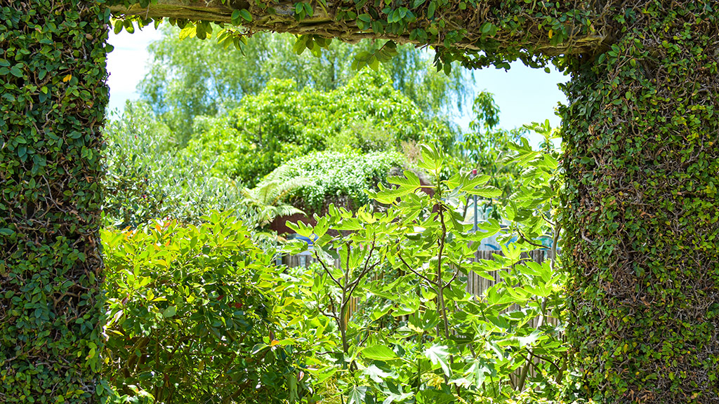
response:
[[[111,14],[226,43],[258,31],[431,45],[436,65],[572,73],[567,334],[587,395],[719,401],[719,10],[713,0],[5,0],[0,7],[0,401],[93,402],[100,129]],[[129,27],[129,20],[121,23]],[[232,26],[232,27],[230,27]]]

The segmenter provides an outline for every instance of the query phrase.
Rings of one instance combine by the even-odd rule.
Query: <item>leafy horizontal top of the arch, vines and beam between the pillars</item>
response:
[[[216,35],[219,42],[241,48],[244,37],[257,31],[298,35],[296,50],[318,52],[337,38],[388,40],[372,54],[357,55],[360,67],[392,56],[395,43],[432,45],[439,70],[449,72],[459,61],[467,68],[494,65],[509,68],[513,60],[533,67],[551,61],[562,65],[563,55],[596,52],[610,33],[608,15],[593,2],[482,1],[482,0],[352,0],[352,1],[209,1],[203,14],[193,13],[180,1],[116,0],[112,10],[125,19],[115,32],[134,30],[153,19],[170,17],[184,35],[204,39],[213,32],[210,22],[229,24]],[[191,21],[194,19],[196,21]]]

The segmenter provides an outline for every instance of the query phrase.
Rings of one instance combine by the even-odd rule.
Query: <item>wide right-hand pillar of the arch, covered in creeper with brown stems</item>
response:
[[[566,88],[569,337],[595,398],[719,403],[719,8],[642,4]]]

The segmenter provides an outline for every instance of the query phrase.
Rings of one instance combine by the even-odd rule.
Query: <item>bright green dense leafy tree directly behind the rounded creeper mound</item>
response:
[[[399,147],[402,141],[452,142],[452,130],[427,119],[390,86],[387,75],[362,72],[346,86],[294,91],[292,81],[270,81],[257,96],[196,135],[187,152],[211,162],[212,172],[255,185],[283,162],[331,147],[364,151]],[[377,147],[377,149],[375,149]]]

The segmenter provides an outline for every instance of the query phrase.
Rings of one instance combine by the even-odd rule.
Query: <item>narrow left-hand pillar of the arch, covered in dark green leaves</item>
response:
[[[0,402],[102,394],[102,1],[0,4]]]

